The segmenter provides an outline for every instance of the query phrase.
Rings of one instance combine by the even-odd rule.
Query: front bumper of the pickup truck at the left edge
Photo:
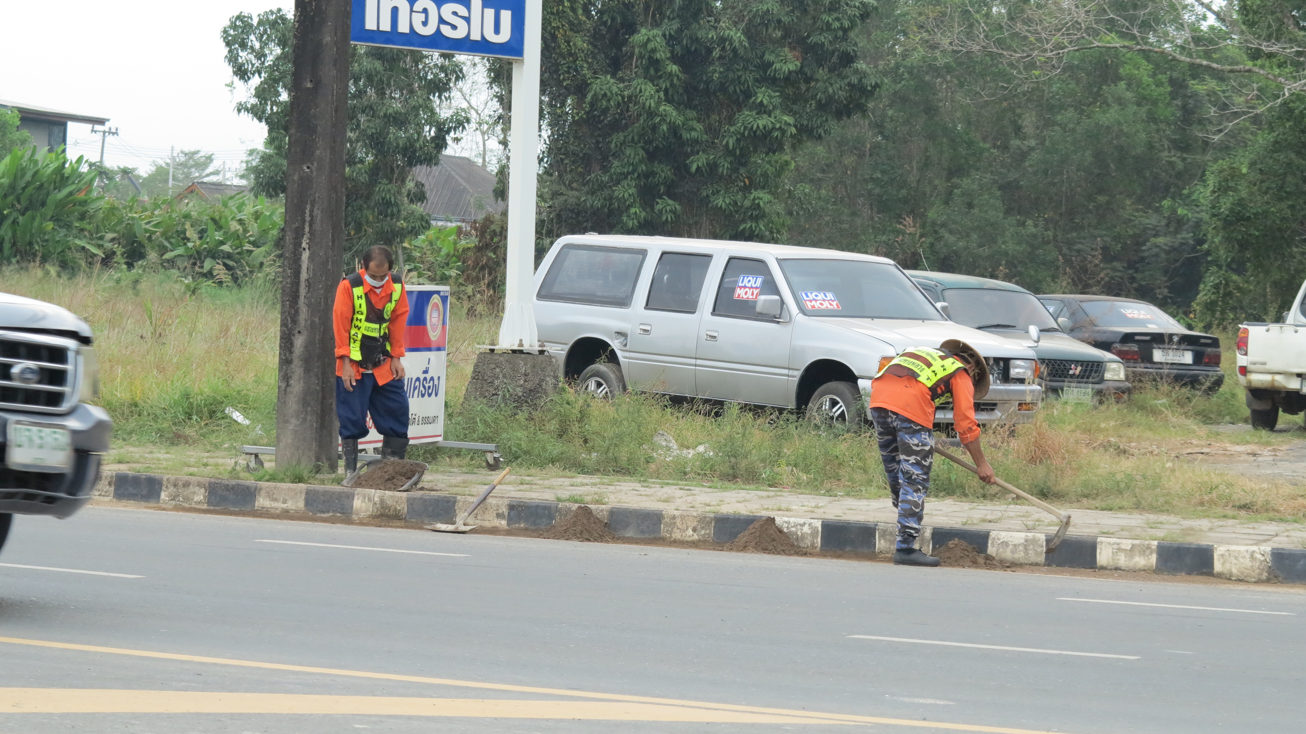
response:
[[[67,428],[72,435],[73,466],[65,473],[17,471],[4,465],[9,421],[31,421]],[[108,451],[114,422],[103,407],[80,404],[71,413],[47,415],[0,411],[0,512],[68,517],[90,502],[99,478],[101,455]]]

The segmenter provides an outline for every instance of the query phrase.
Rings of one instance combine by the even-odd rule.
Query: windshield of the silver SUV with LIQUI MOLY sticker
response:
[[[912,278],[888,263],[781,260],[780,269],[808,316],[943,320]]]

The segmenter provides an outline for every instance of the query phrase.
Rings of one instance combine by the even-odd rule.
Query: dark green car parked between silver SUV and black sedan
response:
[[[908,270],[908,274],[935,302],[948,304],[948,317],[953,321],[1034,350],[1040,366],[1038,383],[1045,394],[1121,398],[1130,393],[1122,360],[1062,333],[1028,290],[1015,283],[953,273]],[[1038,343],[1030,341],[1029,327],[1038,327]]]

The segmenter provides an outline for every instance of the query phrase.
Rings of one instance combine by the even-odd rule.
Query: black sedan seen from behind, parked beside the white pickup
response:
[[[1183,328],[1144,300],[1113,295],[1040,295],[1057,324],[1084,343],[1124,360],[1131,381],[1173,380],[1220,389],[1220,338]]]

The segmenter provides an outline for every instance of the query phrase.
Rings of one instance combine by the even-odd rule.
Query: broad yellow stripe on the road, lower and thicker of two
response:
[[[0,688],[0,713],[330,713],[473,718],[701,721],[712,724],[842,724],[821,718],[801,718],[767,713],[607,701],[518,701],[503,699],[417,699],[85,688]]]

